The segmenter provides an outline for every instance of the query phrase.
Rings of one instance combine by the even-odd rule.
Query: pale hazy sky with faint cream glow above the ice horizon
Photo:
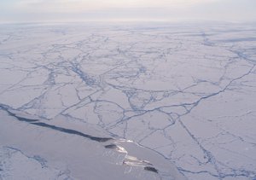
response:
[[[0,0],[0,22],[256,21],[256,0]]]

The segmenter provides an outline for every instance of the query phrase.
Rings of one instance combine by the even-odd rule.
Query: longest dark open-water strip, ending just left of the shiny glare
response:
[[[90,139],[92,141],[96,141],[96,142],[108,142],[109,140],[113,140],[113,138],[90,136],[90,135],[84,134],[83,132],[79,132],[79,131],[75,131],[75,130],[71,130],[71,129],[66,129],[66,128],[55,126],[55,125],[48,125],[48,124],[41,123],[41,122],[36,122],[36,123],[31,123],[31,124],[42,126],[42,127],[47,127],[49,129],[52,129],[52,130],[65,132],[67,134],[83,136],[85,138],[88,138],[88,139]]]

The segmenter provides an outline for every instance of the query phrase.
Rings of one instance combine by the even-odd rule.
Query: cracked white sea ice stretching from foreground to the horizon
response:
[[[256,24],[0,26],[0,179],[256,179]]]

